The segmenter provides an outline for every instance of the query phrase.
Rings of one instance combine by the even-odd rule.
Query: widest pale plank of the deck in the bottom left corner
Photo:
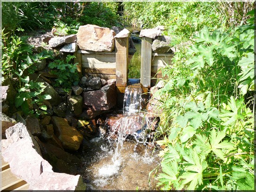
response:
[[[2,184],[1,190],[11,191],[14,190],[22,185],[27,184],[26,181],[16,177],[12,172],[11,169],[8,168],[1,172],[2,175]]]

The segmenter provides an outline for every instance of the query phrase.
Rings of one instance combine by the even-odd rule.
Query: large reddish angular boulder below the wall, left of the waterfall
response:
[[[84,107],[94,111],[109,110],[116,104],[115,83],[103,86],[100,90],[83,92]]]

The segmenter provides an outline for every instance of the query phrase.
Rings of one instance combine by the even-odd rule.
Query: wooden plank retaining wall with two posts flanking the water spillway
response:
[[[155,85],[155,78],[162,77],[160,69],[171,64],[173,53],[152,53],[153,39],[141,39],[141,85],[146,93]],[[74,55],[80,76],[116,79],[117,91],[124,93],[128,83],[128,37],[115,38],[115,51],[111,53],[78,50]]]

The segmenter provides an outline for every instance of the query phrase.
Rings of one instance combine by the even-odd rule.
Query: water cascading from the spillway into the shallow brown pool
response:
[[[141,86],[128,86],[123,115],[111,126],[108,136],[101,135],[88,144],[82,171],[88,190],[156,189],[153,176],[148,184],[148,173],[158,165],[159,159],[153,153],[154,148],[146,145],[147,137],[143,134],[148,134],[140,125],[147,123],[138,122],[145,121],[142,116]]]

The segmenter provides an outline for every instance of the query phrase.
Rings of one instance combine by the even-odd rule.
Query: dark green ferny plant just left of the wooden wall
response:
[[[51,73],[58,76],[58,78],[55,79],[56,82],[54,86],[70,88],[73,85],[78,85],[79,75],[76,67],[78,63],[70,63],[70,60],[74,58],[74,55],[68,55],[66,60],[54,60],[48,64],[50,69],[54,69]]]

